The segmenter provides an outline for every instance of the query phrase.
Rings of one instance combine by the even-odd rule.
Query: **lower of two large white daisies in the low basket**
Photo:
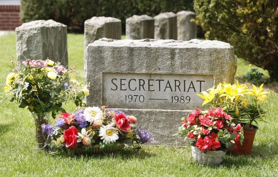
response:
[[[103,140],[105,144],[110,144],[110,142],[114,143],[116,142],[116,140],[119,139],[117,129],[115,129],[109,124],[100,127],[99,136],[101,137],[100,139]]]

